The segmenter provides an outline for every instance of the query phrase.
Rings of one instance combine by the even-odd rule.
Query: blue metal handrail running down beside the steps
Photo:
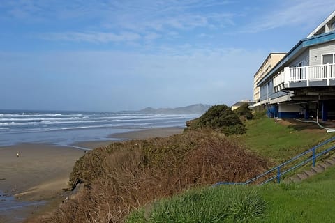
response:
[[[335,149],[335,146],[330,146],[329,148],[318,152],[318,148],[325,146],[326,144],[330,144],[332,141],[335,141],[335,137],[332,137],[330,139],[327,139],[326,141],[323,141],[322,143],[318,144],[317,146],[314,146],[313,148],[308,149],[307,151],[304,151],[304,153],[300,153],[299,155],[296,155],[295,157],[292,157],[292,159],[283,162],[282,164],[279,164],[278,166],[270,169],[269,171],[266,171],[263,174],[260,174],[259,176],[256,176],[255,178],[252,178],[251,180],[246,180],[246,182],[219,182],[214,184],[215,185],[248,185],[250,183],[256,183],[258,185],[263,185],[265,183],[269,183],[272,180],[276,180],[277,183],[281,182],[281,178],[283,175],[288,174],[290,171],[293,171],[294,169],[297,169],[304,164],[307,164],[308,162],[312,162],[313,167],[315,167],[315,162],[318,157],[321,155],[325,155],[329,151],[332,151]]]

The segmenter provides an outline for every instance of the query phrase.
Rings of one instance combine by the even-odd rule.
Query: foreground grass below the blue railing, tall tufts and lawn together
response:
[[[129,215],[144,222],[334,222],[335,168],[303,183],[190,190]]]

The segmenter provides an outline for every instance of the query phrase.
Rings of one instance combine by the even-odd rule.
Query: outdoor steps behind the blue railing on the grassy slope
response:
[[[305,180],[306,178],[309,178],[310,176],[314,176],[315,174],[322,173],[328,167],[335,167],[335,155],[332,155],[331,157],[327,158],[326,160],[323,160],[323,162],[320,162],[315,167],[311,167],[311,169],[302,171],[299,174],[295,174],[294,176],[290,176],[289,178],[286,178],[284,180],[284,182],[285,183],[301,182],[301,180]]]

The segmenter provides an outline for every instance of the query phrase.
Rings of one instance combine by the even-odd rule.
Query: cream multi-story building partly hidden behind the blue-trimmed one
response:
[[[253,101],[256,103],[254,106],[260,105],[260,88],[257,86],[257,83],[267,75],[271,68],[273,68],[283,56],[285,56],[285,53],[269,54],[267,59],[262,63],[262,66],[260,66],[255,75],[253,75]]]

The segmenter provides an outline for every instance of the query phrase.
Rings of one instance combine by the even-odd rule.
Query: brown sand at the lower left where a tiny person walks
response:
[[[57,199],[68,186],[68,176],[82,155],[84,151],[80,149],[46,144],[0,147],[0,190],[18,201]],[[10,208],[4,203],[6,199],[0,202],[0,208]],[[22,222],[41,205],[31,202],[30,206],[0,210],[0,222]]]

